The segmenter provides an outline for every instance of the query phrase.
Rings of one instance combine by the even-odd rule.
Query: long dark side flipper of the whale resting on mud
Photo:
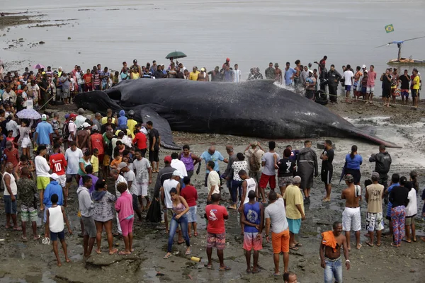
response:
[[[169,122],[161,117],[157,111],[149,106],[145,106],[140,110],[140,116],[144,123],[152,121],[154,128],[158,130],[159,135],[161,136],[161,145],[164,146],[164,148],[181,149],[181,146],[174,143],[173,133],[171,132]]]

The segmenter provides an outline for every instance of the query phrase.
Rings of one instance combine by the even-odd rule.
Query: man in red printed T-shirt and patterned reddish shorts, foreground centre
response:
[[[229,219],[229,214],[225,207],[220,205],[220,194],[211,195],[211,204],[205,207],[205,214],[208,219],[208,238],[207,238],[207,256],[208,265],[205,265],[208,269],[212,268],[211,255],[212,248],[217,248],[217,256],[220,261],[220,271],[231,270],[227,267],[224,262],[223,250],[226,246],[226,229],[225,219]]]

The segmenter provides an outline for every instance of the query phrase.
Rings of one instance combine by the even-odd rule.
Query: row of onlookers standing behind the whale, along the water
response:
[[[328,71],[327,56],[314,64],[317,64],[317,69],[312,69],[312,63],[302,65],[297,59],[295,67],[291,67],[290,62],[286,62],[285,69],[282,70],[278,63],[273,65],[273,62],[270,62],[264,71],[264,76],[259,67],[251,68],[247,81],[271,79],[297,93],[304,93],[310,100],[319,100],[321,103],[324,103],[323,100],[327,103],[327,95],[329,95],[330,103],[337,103],[338,87],[341,84],[346,102],[349,102],[352,96],[355,100],[362,98],[366,104],[373,104],[375,81],[378,79],[373,65],[370,65],[368,69],[363,64],[354,70],[350,64],[347,64],[342,66],[340,74],[336,71],[334,64],[330,65]],[[242,72],[238,64],[231,66],[229,58],[226,58],[221,68],[217,66],[211,71],[208,71],[206,67],[198,69],[196,66],[190,71],[183,63],[174,62],[174,58],[170,58],[167,65],[157,64],[154,60],[152,64],[147,62],[145,66],[140,66],[137,59],[134,59],[130,67],[127,62],[123,62],[120,71],[111,71],[108,67],[102,68],[101,64],[97,64],[91,69],[86,69],[86,72],[79,65],[75,65],[69,72],[63,71],[62,67],[58,67],[55,71],[50,66],[36,71],[30,71],[27,67],[23,74],[19,74],[18,71],[2,74],[4,71],[0,66],[0,95],[3,100],[10,100],[11,103],[16,103],[18,100],[16,107],[17,110],[21,110],[27,105],[42,107],[50,101],[50,98],[69,104],[77,93],[105,90],[120,81],[132,79],[242,82]],[[395,103],[397,96],[400,96],[402,103],[407,105],[411,95],[413,107],[419,107],[421,76],[416,68],[412,70],[411,75],[407,69],[403,71],[403,74],[396,68],[386,69],[381,74],[380,81],[382,81],[382,100],[385,106],[390,106],[390,100]]]

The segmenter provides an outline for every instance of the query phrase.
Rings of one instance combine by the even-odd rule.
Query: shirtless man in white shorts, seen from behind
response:
[[[342,212],[342,229],[347,238],[348,250],[350,250],[350,231],[356,231],[356,248],[360,250],[360,231],[361,231],[361,215],[360,204],[361,200],[361,187],[354,185],[353,175],[347,174],[345,176],[346,189],[342,190],[341,199],[346,200],[346,208]]]

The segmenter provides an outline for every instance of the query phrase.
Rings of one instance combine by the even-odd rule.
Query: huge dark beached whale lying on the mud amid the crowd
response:
[[[170,149],[180,147],[174,144],[171,129],[265,139],[357,137],[398,147],[268,80],[243,83],[129,80],[106,91],[81,93],[74,103],[103,115],[108,108],[115,112],[135,110],[136,120],[154,122],[163,146]]]

